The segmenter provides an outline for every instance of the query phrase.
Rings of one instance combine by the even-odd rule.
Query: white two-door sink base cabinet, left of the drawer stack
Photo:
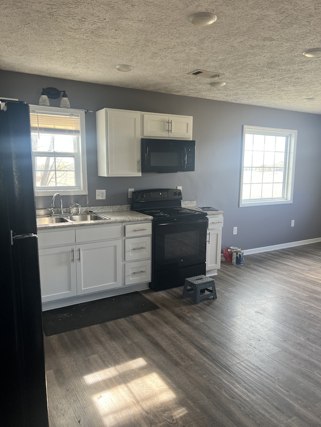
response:
[[[122,285],[120,224],[39,231],[38,243],[42,302]]]

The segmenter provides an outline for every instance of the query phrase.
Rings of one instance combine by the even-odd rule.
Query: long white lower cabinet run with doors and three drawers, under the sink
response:
[[[150,282],[151,221],[39,230],[38,246],[43,303],[75,304]]]

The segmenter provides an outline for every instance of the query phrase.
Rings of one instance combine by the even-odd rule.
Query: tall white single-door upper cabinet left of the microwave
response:
[[[96,112],[99,176],[141,176],[140,112],[104,108]]]

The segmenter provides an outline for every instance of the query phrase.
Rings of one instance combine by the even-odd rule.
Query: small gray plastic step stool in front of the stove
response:
[[[201,291],[204,291],[201,293]],[[194,304],[198,304],[201,299],[213,296],[216,299],[215,280],[211,277],[200,276],[188,277],[185,279],[183,296],[190,296]]]

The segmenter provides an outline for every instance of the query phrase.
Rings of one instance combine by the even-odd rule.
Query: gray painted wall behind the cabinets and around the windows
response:
[[[321,236],[319,115],[0,71],[2,97],[38,104],[41,90],[46,87],[65,90],[72,108],[95,112],[108,107],[193,116],[195,172],[109,178],[97,175],[95,113],[87,113],[89,206],[130,203],[128,188],[182,185],[184,200],[196,200],[198,206],[215,206],[224,211],[222,247],[251,249]],[[53,101],[52,106],[59,106],[59,100]],[[293,203],[238,207],[244,124],[298,131]],[[106,189],[106,201],[95,200],[96,189]],[[37,208],[49,207],[50,201],[50,197],[36,197]],[[87,204],[86,196],[77,200],[64,196],[63,201],[64,206]],[[294,227],[290,227],[291,219],[295,220]],[[237,235],[232,234],[233,226],[238,227]]]

